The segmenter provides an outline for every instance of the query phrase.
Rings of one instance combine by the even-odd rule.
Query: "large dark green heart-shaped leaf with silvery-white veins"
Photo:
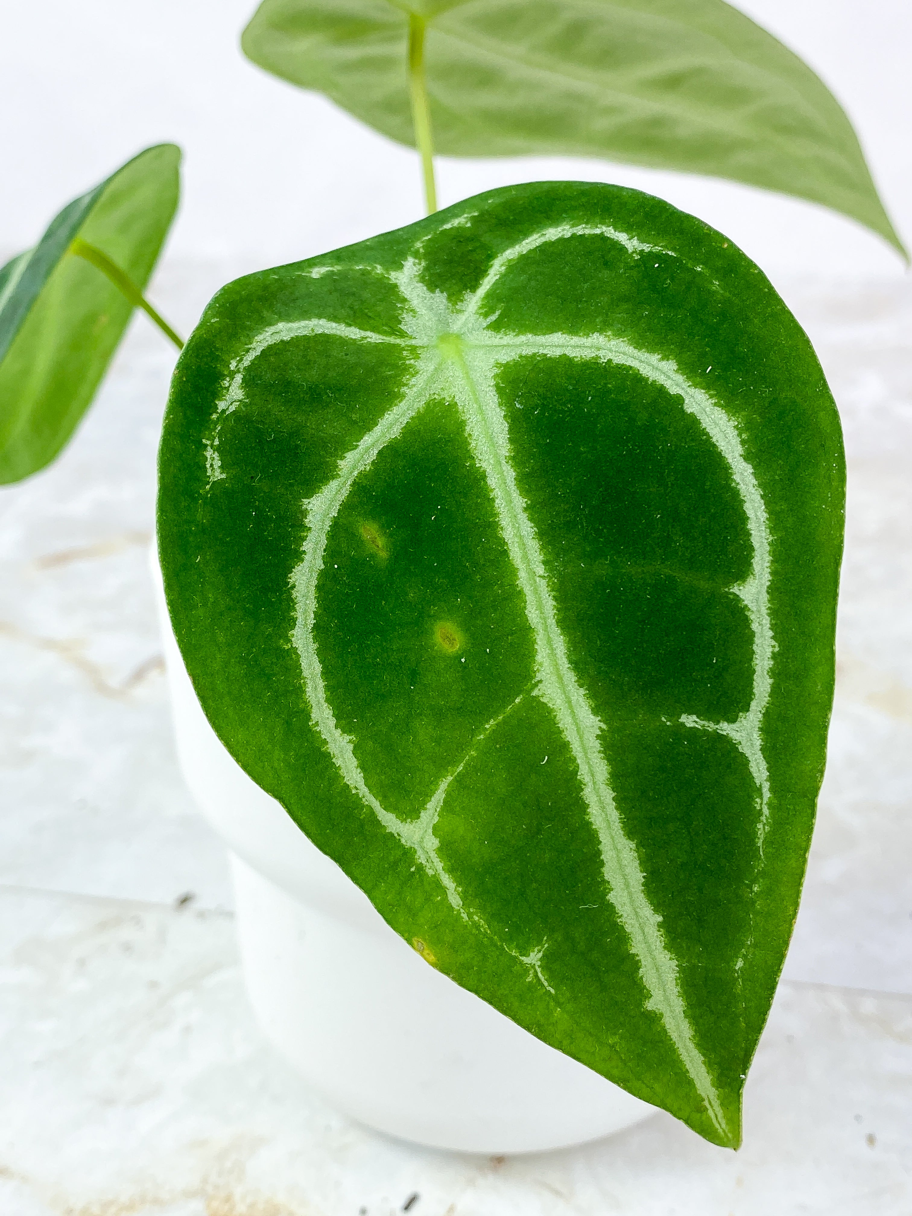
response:
[[[247,772],[429,963],[737,1144],[823,771],[843,496],[756,266],[648,195],[536,184],[223,288],[158,527]]]

